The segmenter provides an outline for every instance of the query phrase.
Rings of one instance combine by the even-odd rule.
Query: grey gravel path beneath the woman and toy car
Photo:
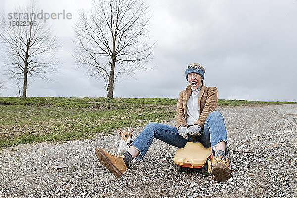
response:
[[[114,132],[92,140],[2,149],[0,198],[297,198],[297,104],[217,110],[230,143],[226,183],[200,170],[178,172],[173,162],[177,148],[159,140],[143,162],[131,164],[116,179],[94,154],[97,146],[116,153],[119,136]]]

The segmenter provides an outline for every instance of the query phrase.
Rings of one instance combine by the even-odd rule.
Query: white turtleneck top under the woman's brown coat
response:
[[[200,116],[200,112],[199,112],[199,106],[198,106],[198,97],[199,97],[199,93],[202,87],[202,83],[200,85],[200,87],[198,87],[196,90],[192,89],[190,98],[187,102],[187,124],[188,125],[193,125],[194,122],[196,122]]]

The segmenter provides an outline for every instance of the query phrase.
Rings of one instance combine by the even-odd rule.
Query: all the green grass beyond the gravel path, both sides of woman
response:
[[[297,102],[218,100],[219,106]],[[89,139],[116,128],[174,118],[177,99],[0,97],[0,148],[24,143]]]

